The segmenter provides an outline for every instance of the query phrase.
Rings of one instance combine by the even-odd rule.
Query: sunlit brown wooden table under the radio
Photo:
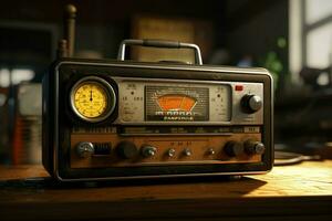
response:
[[[221,219],[222,218],[222,219]],[[56,185],[42,166],[0,167],[0,220],[332,220],[332,160],[240,180]]]

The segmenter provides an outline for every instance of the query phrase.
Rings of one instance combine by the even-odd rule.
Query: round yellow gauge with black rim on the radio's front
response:
[[[72,88],[71,106],[80,118],[101,122],[114,110],[114,90],[103,78],[96,76],[82,78]]]

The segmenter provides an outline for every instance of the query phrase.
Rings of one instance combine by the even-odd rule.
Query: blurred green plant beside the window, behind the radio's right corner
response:
[[[284,38],[277,39],[277,50],[284,50],[287,46],[287,41]],[[280,75],[284,71],[284,66],[282,65],[281,59],[279,57],[276,50],[269,51],[267,55],[260,60],[260,65],[269,70],[269,72],[273,76],[274,81],[274,90],[277,90],[278,81]]]

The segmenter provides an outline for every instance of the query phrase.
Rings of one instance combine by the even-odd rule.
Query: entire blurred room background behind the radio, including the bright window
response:
[[[115,59],[123,39],[166,39],[198,44],[205,64],[268,69],[276,147],[331,157],[331,0],[4,0],[0,164],[41,162],[40,83],[55,59],[68,3],[77,8],[79,57]],[[193,62],[193,54],[137,48],[131,59]]]

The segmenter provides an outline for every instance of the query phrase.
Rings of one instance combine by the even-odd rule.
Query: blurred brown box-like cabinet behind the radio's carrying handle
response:
[[[203,59],[214,46],[215,30],[212,22],[183,18],[136,15],[132,21],[133,39],[173,40],[198,44]],[[188,49],[133,48],[133,60],[138,61],[179,61],[194,63],[194,52]]]

